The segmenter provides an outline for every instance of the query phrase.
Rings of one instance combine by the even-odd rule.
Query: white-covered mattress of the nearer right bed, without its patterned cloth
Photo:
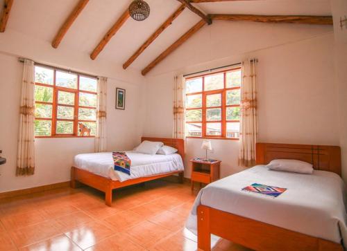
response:
[[[287,191],[277,198],[241,191],[253,183]],[[332,172],[294,174],[258,165],[201,189],[186,226],[196,234],[196,207],[202,204],[336,243],[344,239],[346,243],[344,198],[344,182]]]

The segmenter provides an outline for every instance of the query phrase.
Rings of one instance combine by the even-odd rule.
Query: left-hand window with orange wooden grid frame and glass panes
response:
[[[96,78],[35,66],[35,136],[95,136],[96,86]]]

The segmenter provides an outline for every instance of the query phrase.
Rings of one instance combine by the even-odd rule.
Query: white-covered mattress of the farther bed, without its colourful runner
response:
[[[119,181],[164,174],[171,171],[182,171],[184,169],[183,161],[179,154],[149,155],[139,154],[135,151],[126,151],[126,154],[131,160],[130,176],[114,170],[112,152],[78,154],[74,158],[74,166]]]

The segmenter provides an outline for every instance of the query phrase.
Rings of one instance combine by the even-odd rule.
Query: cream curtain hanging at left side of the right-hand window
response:
[[[185,78],[174,77],[174,130],[173,138],[185,138]]]

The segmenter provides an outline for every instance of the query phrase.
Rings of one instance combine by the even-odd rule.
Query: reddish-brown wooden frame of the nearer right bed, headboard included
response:
[[[341,176],[340,147],[257,143],[257,165],[266,165],[271,160],[284,158],[310,162],[314,169],[332,171]],[[344,250],[339,243],[237,216],[205,205],[198,205],[197,218],[199,250],[210,250],[210,234],[221,236],[223,239],[253,250]]]

